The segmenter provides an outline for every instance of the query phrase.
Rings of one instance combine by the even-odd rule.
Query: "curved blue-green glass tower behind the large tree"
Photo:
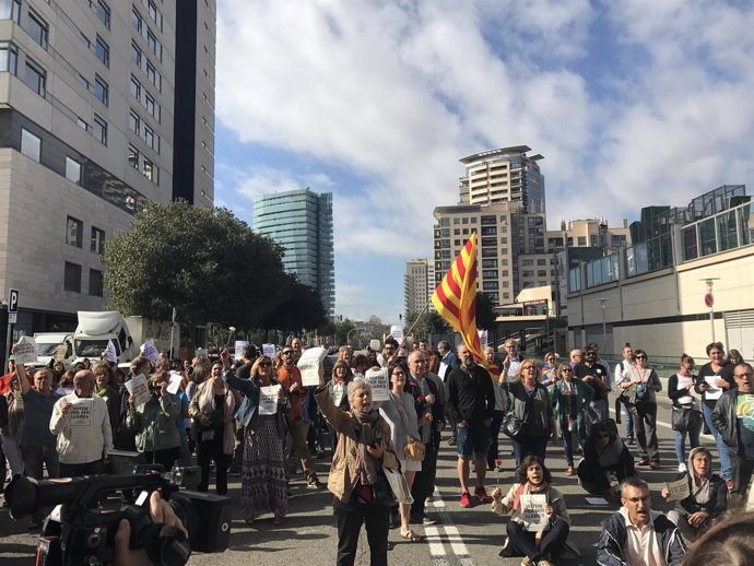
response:
[[[317,291],[325,313],[334,316],[332,193],[316,193],[306,188],[257,194],[254,227],[283,246],[285,270]]]

